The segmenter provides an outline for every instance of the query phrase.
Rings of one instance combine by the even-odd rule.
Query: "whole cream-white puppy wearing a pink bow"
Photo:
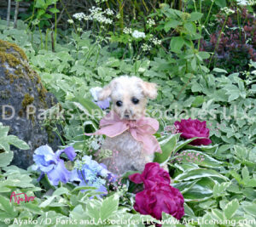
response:
[[[102,119],[99,130],[99,134],[107,135],[102,152],[112,150],[112,156],[102,160],[108,170],[119,175],[129,170],[143,171],[146,163],[153,162],[154,152],[161,152],[153,135],[159,123],[145,117],[147,99],[156,96],[155,83],[128,76],[114,78],[99,93],[100,100],[111,98],[113,102],[113,111],[109,119]]]

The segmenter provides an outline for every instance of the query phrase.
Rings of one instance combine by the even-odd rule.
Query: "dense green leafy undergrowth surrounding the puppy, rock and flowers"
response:
[[[148,115],[160,122],[156,136],[163,155],[154,161],[168,163],[171,184],[185,200],[185,216],[180,223],[162,226],[256,226],[256,63],[247,60],[247,71],[236,72],[230,71],[233,66],[226,70],[219,68],[221,64],[210,65],[216,55],[200,51],[204,34],[201,28],[207,26],[208,20],[207,14],[202,13],[162,7],[150,15],[155,24],[151,21],[145,30],[135,24],[119,34],[109,31],[108,36],[102,30],[96,34],[97,24],[96,30],[91,31],[60,30],[54,52],[49,33],[30,31],[21,20],[17,29],[6,29],[6,21],[0,20],[0,38],[25,50],[45,88],[55,94],[60,105],[51,111],[56,112],[61,106],[63,117],[49,117],[44,123],[59,133],[63,146],[73,146],[78,160],[93,155],[102,143],[101,137],[84,136],[85,131],[98,128],[104,114],[92,102],[90,88],[102,87],[121,75],[156,82],[159,93],[156,100],[148,103]],[[226,14],[227,20],[229,15]],[[145,37],[132,35],[137,30],[145,32]],[[169,37],[173,33],[175,36]],[[166,38],[160,42],[160,37]],[[95,110],[98,116],[92,115]],[[180,133],[168,129],[189,117],[207,121],[211,145],[189,145],[195,138],[181,139]],[[11,144],[26,149],[20,140],[5,139],[8,131],[0,125],[0,147],[9,151]],[[157,222],[133,209],[135,184],[127,179],[128,173],[119,184],[107,186],[108,196],[91,199],[96,195],[94,188],[70,183],[52,186],[47,178],[38,182],[39,173],[32,168],[26,171],[8,167],[10,160],[11,151],[0,161],[3,226],[18,226],[18,219],[24,221],[19,226],[25,226],[28,218],[34,220],[33,226],[70,226],[72,220],[76,226],[90,226],[94,224],[88,223],[92,219],[102,226],[143,226],[146,219]],[[36,198],[33,202],[10,203],[13,190]],[[5,218],[11,225],[4,224]],[[46,224],[47,218],[52,223]],[[166,213],[163,220],[177,221]]]

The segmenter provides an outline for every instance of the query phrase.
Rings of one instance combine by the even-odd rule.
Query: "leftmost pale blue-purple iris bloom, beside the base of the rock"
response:
[[[73,161],[76,156],[73,147],[67,147],[64,150],[57,150],[55,153],[49,145],[43,145],[35,150],[33,160],[35,164],[32,166],[33,170],[40,170],[42,179],[44,174],[47,174],[50,184],[57,185],[59,181],[67,183],[70,179],[71,172],[67,170],[64,161],[60,158],[61,153],[65,152],[68,159]]]

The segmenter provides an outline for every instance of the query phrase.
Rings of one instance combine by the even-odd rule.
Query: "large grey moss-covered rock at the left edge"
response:
[[[30,145],[30,150],[13,147],[12,164],[26,168],[32,165],[33,151],[49,144],[54,149],[60,139],[39,118],[43,110],[56,104],[44,88],[40,77],[27,62],[24,51],[13,43],[0,40],[0,122],[10,126],[10,133]]]

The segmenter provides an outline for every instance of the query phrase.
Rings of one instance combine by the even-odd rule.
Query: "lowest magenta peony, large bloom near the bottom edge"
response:
[[[184,199],[179,190],[169,184],[156,183],[135,196],[134,209],[138,213],[149,214],[161,219],[162,212],[171,214],[180,219],[184,215]]]

